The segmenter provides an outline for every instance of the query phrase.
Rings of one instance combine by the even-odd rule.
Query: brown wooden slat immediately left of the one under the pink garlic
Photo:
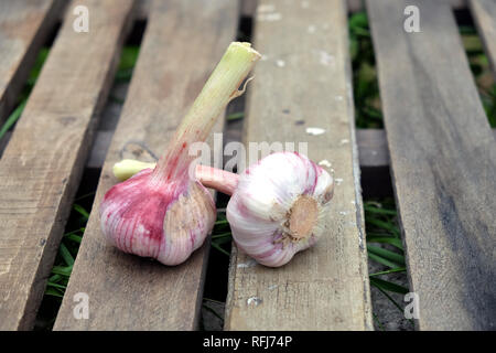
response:
[[[130,0],[84,3],[90,32],[68,12],[0,160],[2,330],[33,325],[130,22]]]

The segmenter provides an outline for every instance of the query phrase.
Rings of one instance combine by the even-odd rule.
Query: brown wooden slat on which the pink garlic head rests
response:
[[[55,330],[192,330],[197,324],[208,242],[168,267],[123,254],[100,232],[98,205],[117,182],[111,168],[129,141],[165,149],[222,54],[234,40],[237,3],[154,1],[122,115],[105,162]],[[220,121],[219,121],[220,122]],[[216,130],[222,129],[222,124]],[[138,156],[134,156],[138,158]],[[89,319],[73,315],[74,295],[89,297]]]

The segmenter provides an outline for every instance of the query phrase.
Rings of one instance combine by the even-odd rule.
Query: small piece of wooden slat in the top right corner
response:
[[[496,0],[470,0],[468,3],[496,77]]]

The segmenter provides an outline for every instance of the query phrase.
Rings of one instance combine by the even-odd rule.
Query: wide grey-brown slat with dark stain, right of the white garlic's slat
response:
[[[420,33],[403,9],[420,9]],[[496,328],[496,142],[449,6],[367,2],[422,330]]]

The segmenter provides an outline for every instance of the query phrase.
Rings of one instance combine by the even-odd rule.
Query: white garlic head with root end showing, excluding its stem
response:
[[[333,190],[332,176],[305,156],[263,158],[240,174],[227,205],[237,246],[262,265],[287,264],[325,232]]]

